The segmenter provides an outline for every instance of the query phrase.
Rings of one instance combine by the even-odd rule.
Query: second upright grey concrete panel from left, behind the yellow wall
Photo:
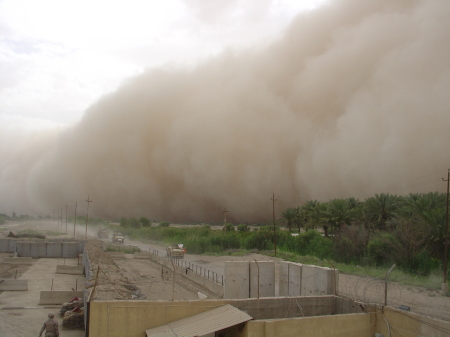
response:
[[[275,261],[250,262],[250,297],[275,297]]]

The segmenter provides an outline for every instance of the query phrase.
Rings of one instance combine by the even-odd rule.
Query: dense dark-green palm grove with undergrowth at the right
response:
[[[428,274],[442,266],[445,243],[446,194],[396,196],[377,194],[364,201],[354,198],[328,202],[308,201],[287,208],[282,221],[291,230],[301,228],[296,244],[286,247],[338,262],[384,266],[395,263],[404,269]],[[311,245],[310,229],[322,247]],[[303,238],[301,237],[303,236]],[[314,240],[313,239],[313,240]]]

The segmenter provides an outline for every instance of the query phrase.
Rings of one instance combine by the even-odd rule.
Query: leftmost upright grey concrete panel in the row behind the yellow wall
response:
[[[248,261],[225,262],[224,298],[249,298]]]

